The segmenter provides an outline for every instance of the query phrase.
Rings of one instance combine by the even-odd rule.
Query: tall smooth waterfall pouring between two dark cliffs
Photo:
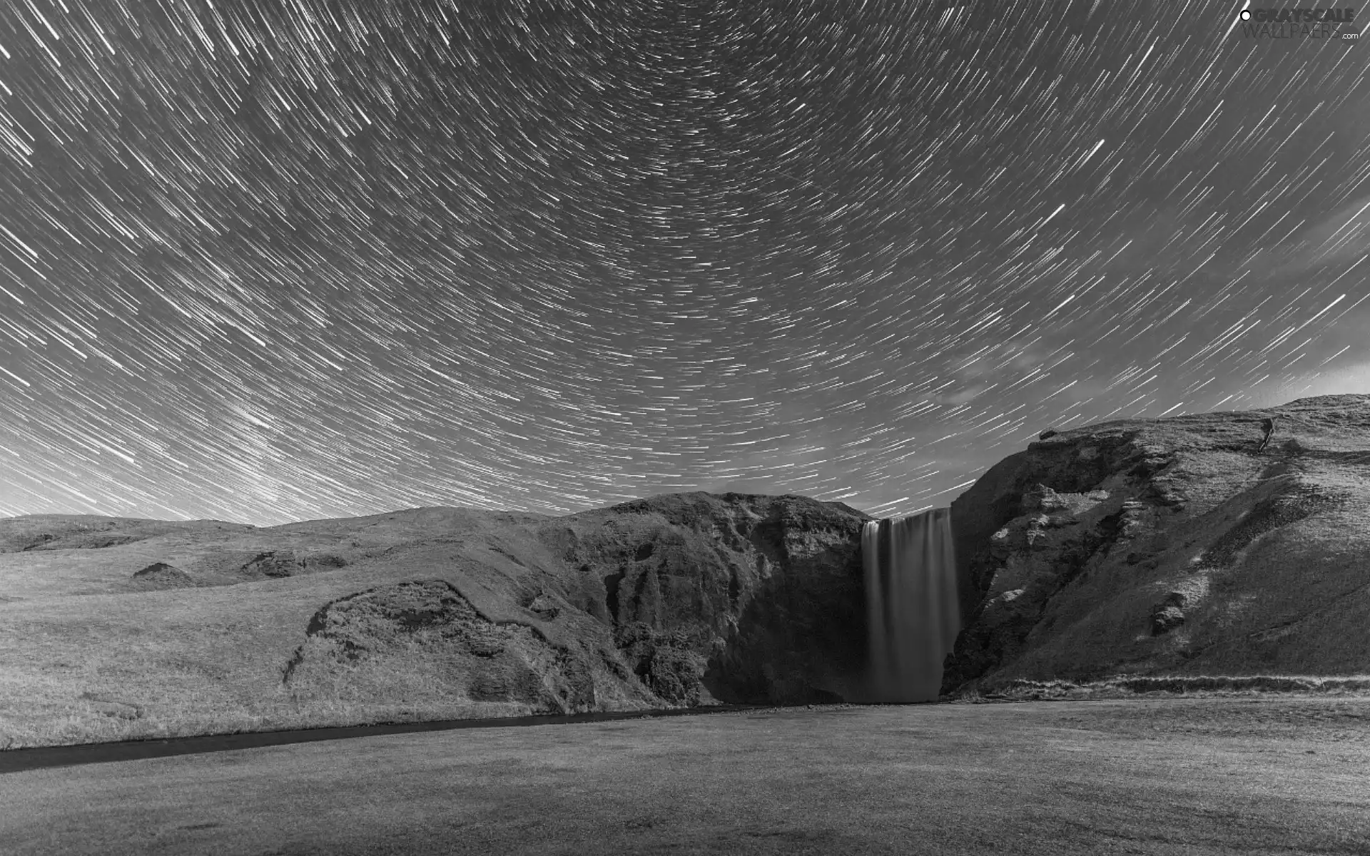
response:
[[[951,509],[862,530],[871,701],[936,701],[960,631]]]

